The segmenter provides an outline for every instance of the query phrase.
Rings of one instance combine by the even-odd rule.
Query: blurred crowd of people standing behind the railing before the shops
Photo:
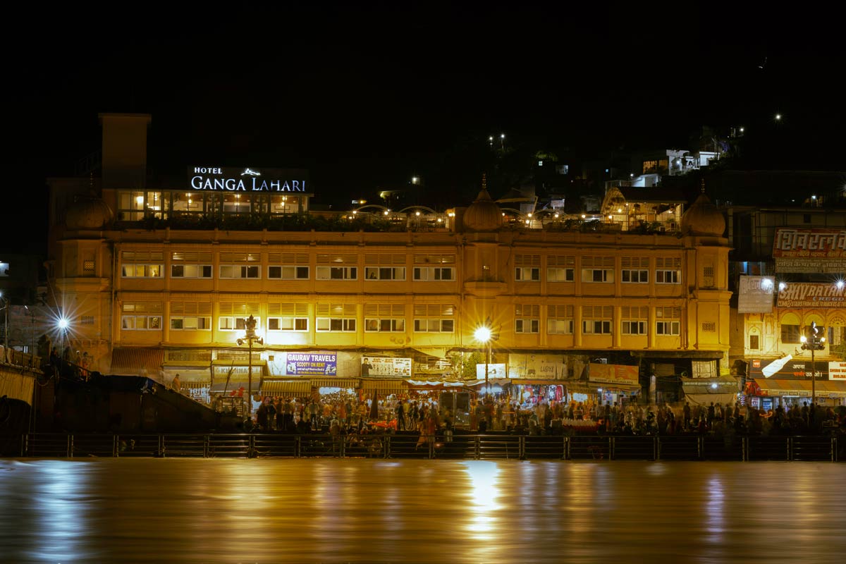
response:
[[[352,395],[332,401],[315,398],[265,397],[251,419],[251,430],[296,434],[346,435],[367,429],[420,435],[469,433],[523,435],[807,434],[846,430],[846,408],[779,407],[761,410],[750,406],[711,402],[645,405],[619,402],[555,402],[522,404],[511,397],[471,400],[467,420],[456,424],[455,413],[441,408],[434,398],[379,400]]]

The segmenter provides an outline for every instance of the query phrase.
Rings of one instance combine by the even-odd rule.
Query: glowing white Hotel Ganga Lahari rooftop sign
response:
[[[221,192],[303,192],[307,173],[299,169],[189,167],[191,189]]]

